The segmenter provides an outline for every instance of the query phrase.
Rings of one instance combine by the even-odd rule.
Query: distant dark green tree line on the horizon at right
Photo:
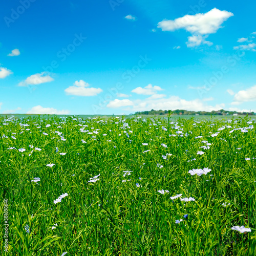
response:
[[[238,115],[255,115],[254,112],[237,112],[237,111],[227,111],[227,110],[218,110],[218,111],[187,111],[187,110],[173,110],[171,111],[173,115],[189,115],[189,116],[195,116],[195,115],[200,115],[200,116],[215,116],[215,115],[233,115],[233,114],[238,114]],[[168,110],[151,110],[151,111],[140,111],[136,112],[136,115],[167,115]]]

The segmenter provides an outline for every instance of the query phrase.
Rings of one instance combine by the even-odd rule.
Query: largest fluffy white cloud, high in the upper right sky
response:
[[[187,47],[196,47],[201,44],[212,45],[205,38],[209,34],[216,33],[222,23],[231,16],[233,16],[231,12],[214,8],[206,13],[185,15],[174,20],[164,19],[158,23],[158,28],[161,28],[162,31],[185,29],[190,32],[192,36],[188,37]]]

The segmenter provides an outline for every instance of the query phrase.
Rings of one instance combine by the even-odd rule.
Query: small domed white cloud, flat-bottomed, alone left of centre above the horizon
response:
[[[80,80],[75,81],[73,86],[65,89],[67,95],[76,95],[76,96],[95,96],[102,92],[100,88],[89,88],[90,84]]]

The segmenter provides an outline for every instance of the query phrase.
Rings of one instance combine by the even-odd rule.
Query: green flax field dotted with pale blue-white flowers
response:
[[[1,255],[256,255],[255,123],[1,117]]]

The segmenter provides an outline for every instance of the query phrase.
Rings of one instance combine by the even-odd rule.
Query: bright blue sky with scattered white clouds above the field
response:
[[[256,3],[5,1],[0,113],[256,112]]]

